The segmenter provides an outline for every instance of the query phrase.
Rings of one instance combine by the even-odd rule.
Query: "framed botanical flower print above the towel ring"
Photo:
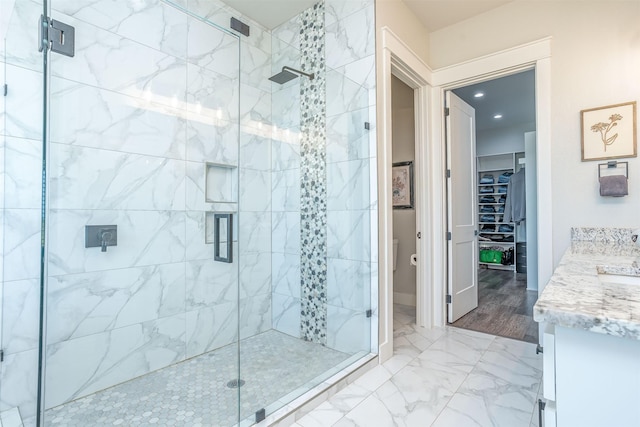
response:
[[[636,102],[580,111],[582,161],[637,157]]]

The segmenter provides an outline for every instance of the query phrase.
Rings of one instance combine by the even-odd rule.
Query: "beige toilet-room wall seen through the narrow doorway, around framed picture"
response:
[[[392,96],[392,160],[415,161],[415,113],[413,89],[400,79],[391,79]],[[417,190],[419,182],[414,183]],[[416,267],[409,263],[416,253],[415,209],[393,210],[393,238],[398,239],[397,269],[393,272],[393,300],[396,303],[416,304]]]

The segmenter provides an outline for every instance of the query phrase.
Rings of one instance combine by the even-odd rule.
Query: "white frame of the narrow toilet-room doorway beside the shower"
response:
[[[427,242],[434,241],[428,212],[433,212],[430,194],[433,180],[425,174],[429,168],[427,159],[438,158],[430,144],[429,117],[431,116],[431,69],[388,27],[379,30],[378,52],[376,55],[378,75],[377,85],[377,160],[378,160],[378,355],[380,363],[393,356],[393,208],[391,203],[392,164],[392,123],[391,123],[391,75],[399,78],[414,91],[415,114],[415,160],[414,181],[417,183],[415,195],[416,232],[422,238],[417,240],[416,256],[416,323],[430,328],[433,325],[433,298],[430,289],[423,283],[433,280],[433,269],[427,266],[434,252]],[[426,262],[425,262],[426,261]]]

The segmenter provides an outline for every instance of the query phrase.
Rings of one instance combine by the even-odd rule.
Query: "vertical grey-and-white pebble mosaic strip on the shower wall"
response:
[[[327,172],[324,2],[304,11],[300,65],[300,332],[327,342]]]

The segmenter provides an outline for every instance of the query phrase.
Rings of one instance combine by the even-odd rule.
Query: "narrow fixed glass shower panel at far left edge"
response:
[[[38,385],[42,1],[0,1],[0,416],[33,425]]]

